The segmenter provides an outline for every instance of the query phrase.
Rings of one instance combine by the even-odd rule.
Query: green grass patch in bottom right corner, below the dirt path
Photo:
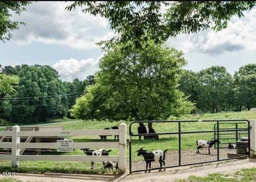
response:
[[[185,180],[176,182],[254,182],[256,181],[256,168],[245,168],[232,174],[212,173],[204,177],[190,176]]]

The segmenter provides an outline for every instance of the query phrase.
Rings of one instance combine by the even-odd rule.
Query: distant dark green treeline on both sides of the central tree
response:
[[[70,117],[69,109],[76,98],[84,94],[86,86],[94,84],[92,75],[83,81],[75,78],[63,82],[54,68],[41,65],[5,66],[1,74],[19,78],[14,92],[0,94],[0,118],[12,124]],[[234,76],[222,66],[199,72],[183,70],[178,88],[196,104],[193,112],[250,110],[256,107],[256,64],[240,67]]]

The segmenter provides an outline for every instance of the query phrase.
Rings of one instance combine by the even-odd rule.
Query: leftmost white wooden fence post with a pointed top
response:
[[[20,136],[18,132],[20,131],[20,126],[15,125],[12,127],[12,167],[18,168],[19,161],[17,156],[20,154],[20,149],[18,149],[18,143],[20,143]]]

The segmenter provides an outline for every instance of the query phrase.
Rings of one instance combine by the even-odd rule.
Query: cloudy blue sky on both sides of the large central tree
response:
[[[83,80],[98,70],[104,54],[95,45],[114,36],[108,20],[83,14],[81,9],[67,12],[65,2],[33,2],[27,12],[14,15],[24,21],[13,38],[0,42],[0,64],[47,64],[58,70],[62,80]],[[212,65],[225,66],[231,74],[242,65],[256,63],[256,8],[232,17],[228,28],[220,32],[206,30],[198,34],[169,38],[167,45],[184,52],[184,67],[199,71]]]

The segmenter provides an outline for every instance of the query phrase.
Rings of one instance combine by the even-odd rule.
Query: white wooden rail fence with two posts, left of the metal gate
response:
[[[20,160],[45,160],[45,161],[112,161],[118,162],[121,172],[126,168],[126,124],[122,123],[119,129],[110,130],[62,130],[62,131],[20,131],[15,125],[12,131],[0,131],[0,136],[12,136],[12,142],[0,142],[0,148],[11,148],[12,154],[0,154],[0,160],[11,160],[12,167],[19,167]],[[20,137],[33,136],[100,136],[119,135],[119,142],[74,142],[73,148],[118,148],[118,156],[86,156],[84,155],[20,155],[20,149],[26,148],[51,148],[57,149],[57,143],[20,143]],[[22,152],[23,153],[23,152]]]

